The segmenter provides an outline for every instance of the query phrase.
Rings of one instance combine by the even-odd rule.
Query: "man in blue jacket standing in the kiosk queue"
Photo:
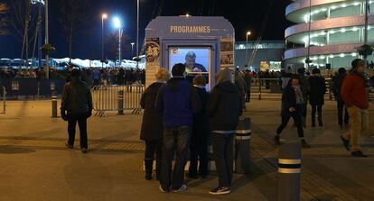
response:
[[[164,146],[161,162],[160,190],[181,192],[187,190],[183,184],[184,166],[192,134],[193,114],[201,109],[196,88],[185,79],[185,65],[175,64],[171,78],[160,88],[156,98],[156,108],[164,114]],[[176,152],[173,168],[172,160]]]

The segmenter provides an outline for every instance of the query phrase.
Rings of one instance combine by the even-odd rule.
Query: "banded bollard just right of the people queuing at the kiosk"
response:
[[[250,119],[241,119],[235,138],[235,172],[248,174],[250,172]]]

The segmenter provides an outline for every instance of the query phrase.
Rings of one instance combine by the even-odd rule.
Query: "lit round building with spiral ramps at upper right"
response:
[[[374,1],[369,1],[369,4],[369,43],[372,44]],[[349,68],[351,60],[359,58],[357,48],[364,41],[365,7],[365,0],[295,0],[288,5],[286,19],[296,24],[285,30],[286,66],[306,68],[304,61],[310,44],[313,68],[324,69],[326,65],[335,69]],[[369,57],[371,60],[374,56]]]

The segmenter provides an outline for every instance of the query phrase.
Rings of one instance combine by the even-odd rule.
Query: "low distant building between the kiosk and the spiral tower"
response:
[[[247,61],[246,61],[246,51]],[[285,41],[237,41],[235,44],[235,67],[251,70],[279,70],[285,52]],[[251,59],[253,57],[253,59]],[[246,68],[246,64],[248,67]]]

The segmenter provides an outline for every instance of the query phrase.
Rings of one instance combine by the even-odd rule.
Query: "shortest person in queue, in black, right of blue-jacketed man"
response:
[[[193,78],[193,87],[196,88],[201,100],[201,110],[194,114],[192,136],[190,144],[190,168],[187,174],[188,178],[201,178],[208,176],[208,139],[210,133],[209,118],[206,112],[209,94],[205,90],[206,80],[203,76]]]

